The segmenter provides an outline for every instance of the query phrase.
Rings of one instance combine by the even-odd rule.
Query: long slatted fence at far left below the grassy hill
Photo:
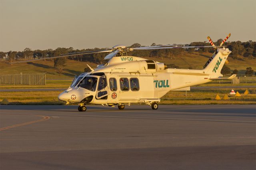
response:
[[[1,84],[46,85],[46,73],[0,75]]]

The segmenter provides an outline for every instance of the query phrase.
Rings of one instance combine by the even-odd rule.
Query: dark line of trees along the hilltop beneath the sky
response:
[[[214,42],[215,45],[219,45],[222,42],[222,39],[217,40]],[[157,45],[156,43],[152,43],[151,46]],[[256,57],[256,42],[252,42],[251,40],[248,42],[226,42],[224,43],[227,48],[229,48],[232,53],[230,56],[233,59],[241,59],[244,58],[254,59]],[[192,42],[190,46],[210,46],[207,42]],[[130,47],[143,47],[139,43],[134,43]],[[8,61],[15,61],[15,60],[28,60],[28,59],[42,59],[45,57],[54,57],[60,54],[65,53],[75,53],[75,52],[82,52],[82,51],[97,51],[97,50],[105,50],[107,48],[93,48],[93,49],[74,49],[72,47],[69,48],[62,48],[58,47],[55,50],[53,49],[46,49],[46,50],[32,50],[30,48],[25,48],[23,51],[8,51],[3,52],[0,51],[0,60],[8,60]],[[181,55],[184,51],[188,51],[192,53],[195,49],[194,48],[179,48],[179,49],[154,49],[154,50],[134,50],[129,51],[128,55],[137,56],[137,57],[160,57],[160,58],[170,58],[173,59],[178,55]],[[206,53],[213,53],[214,48],[200,48],[198,49],[199,54],[202,52]],[[102,59],[106,56],[105,53],[96,53],[96,54],[86,54],[86,55],[77,55],[75,57],[69,57],[69,59],[75,59],[78,61],[91,61],[94,63],[102,63]]]

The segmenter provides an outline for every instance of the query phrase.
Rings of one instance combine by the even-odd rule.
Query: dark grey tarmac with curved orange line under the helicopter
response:
[[[0,105],[1,170],[254,170],[256,105]]]

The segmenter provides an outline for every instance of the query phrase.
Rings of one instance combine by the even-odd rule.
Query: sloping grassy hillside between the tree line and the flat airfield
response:
[[[211,53],[203,53],[202,55],[199,55],[197,52],[194,52],[194,54],[184,52],[182,55],[173,57],[172,59],[146,56],[144,58],[163,62],[166,64],[173,63],[184,69],[187,69],[188,67],[192,67],[193,69],[202,69],[211,55]],[[237,69],[239,71],[239,74],[244,74],[246,71],[246,67],[252,67],[252,69],[256,70],[256,59],[241,61],[234,60],[231,57],[228,57],[228,60],[228,67],[230,67],[231,70]],[[59,75],[56,72],[56,68],[54,68],[53,60],[40,60],[28,63],[17,63],[12,65],[0,62],[0,73],[12,74],[20,72],[43,72],[46,73],[46,79],[72,79],[75,75],[80,75],[82,72],[84,72],[84,68],[87,67],[86,64],[90,65],[91,67],[96,67],[97,65],[96,63],[67,60],[63,73]]]

